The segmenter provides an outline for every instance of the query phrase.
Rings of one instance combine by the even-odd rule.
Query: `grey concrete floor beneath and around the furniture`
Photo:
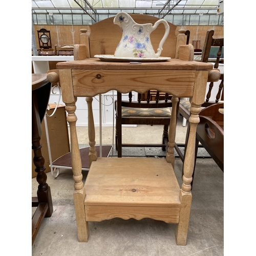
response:
[[[179,119],[176,136],[178,143],[184,142],[186,134],[186,127],[183,127],[181,122],[182,120]],[[156,125],[124,127],[122,130],[124,143],[136,141],[143,143],[149,138],[152,141],[153,135],[160,134],[161,138],[161,133],[162,126]],[[99,141],[98,134],[97,129],[96,141]],[[102,144],[112,144],[112,127],[103,127],[102,135]],[[159,136],[154,137],[155,143],[160,143]],[[78,139],[81,145],[88,143],[86,127],[78,127]],[[125,150],[129,155],[129,148]],[[204,156],[204,152],[201,154]],[[114,149],[113,157],[115,155]],[[180,183],[182,182],[181,172],[182,162],[177,157],[175,173]],[[87,171],[84,170],[82,173],[84,181]],[[137,221],[116,218],[102,222],[90,222],[89,241],[79,243],[73,202],[72,170],[60,169],[57,178],[53,178],[51,173],[48,173],[47,183],[51,188],[53,214],[42,222],[32,245],[32,255],[224,255],[223,176],[223,172],[211,158],[198,158],[192,190],[193,201],[187,245],[177,246],[175,224],[151,219]],[[37,181],[33,178],[32,196],[36,196],[36,190]]]

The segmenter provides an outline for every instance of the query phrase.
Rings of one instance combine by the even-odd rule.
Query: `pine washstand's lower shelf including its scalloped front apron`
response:
[[[172,164],[165,159],[98,158],[84,188],[87,221],[152,218],[179,222],[180,186]]]

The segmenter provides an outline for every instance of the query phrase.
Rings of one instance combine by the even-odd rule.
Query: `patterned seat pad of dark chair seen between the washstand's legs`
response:
[[[122,106],[122,116],[171,116],[170,108],[148,109],[148,108],[127,108]]]

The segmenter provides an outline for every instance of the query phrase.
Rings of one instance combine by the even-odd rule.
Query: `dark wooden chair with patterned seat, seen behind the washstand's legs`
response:
[[[189,30],[186,30],[184,34],[188,45]],[[124,101],[121,93],[117,92],[115,142],[118,157],[122,157],[122,147],[162,147],[162,150],[167,153],[168,127],[172,111],[171,99],[172,95],[150,90],[144,94],[139,93],[137,101],[132,100],[130,92],[129,101]],[[163,125],[162,142],[158,144],[122,143],[122,124]]]

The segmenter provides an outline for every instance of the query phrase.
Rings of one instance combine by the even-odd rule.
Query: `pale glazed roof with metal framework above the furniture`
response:
[[[84,13],[88,14],[94,22],[96,15],[117,14],[120,11],[158,15],[163,18],[167,14],[217,14],[220,0],[133,0],[125,3],[122,0],[32,0],[32,13]],[[50,4],[51,3],[51,4]],[[107,3],[111,3],[107,4]],[[131,4],[129,4],[131,3]]]

